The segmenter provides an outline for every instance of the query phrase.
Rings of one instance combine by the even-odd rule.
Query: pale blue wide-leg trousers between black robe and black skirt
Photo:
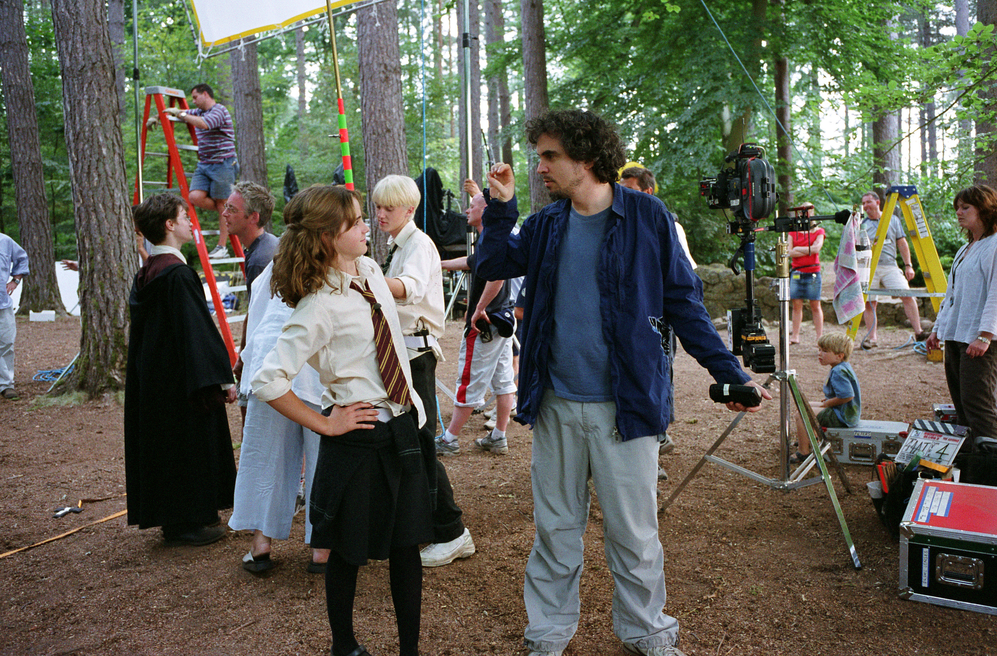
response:
[[[318,406],[306,405],[319,412]],[[308,494],[315,476],[319,436],[287,419],[255,396],[246,404],[245,428],[235,477],[235,502],[228,525],[233,530],[261,530],[287,539],[294,520],[294,499],[305,463],[305,542],[311,541]]]

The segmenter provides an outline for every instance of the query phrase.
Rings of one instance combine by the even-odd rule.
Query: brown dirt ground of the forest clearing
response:
[[[842,330],[838,326],[829,330]],[[18,320],[17,378],[22,400],[0,403],[0,552],[85,528],[0,559],[2,654],[307,654],[328,653],[323,580],[305,572],[303,514],[291,540],[274,544],[277,566],[253,575],[239,566],[248,533],[206,547],[166,548],[159,529],[140,531],[124,509],[122,408],[114,400],[76,406],[40,403],[49,383],[29,382],[76,353],[77,319]],[[865,419],[911,421],[947,402],[942,366],[908,347],[906,332],[881,329],[879,347],[856,353]],[[440,367],[457,366],[456,324]],[[774,337],[774,335],[770,335]],[[817,364],[813,327],[791,347],[791,366],[816,397],[827,377]],[[756,376],[756,378],[762,378]],[[671,493],[733,415],[711,403],[712,382],[689,356],[676,362],[677,448],[662,458]],[[440,395],[444,419],[450,402]],[[238,442],[237,412],[229,413]],[[718,455],[777,476],[779,407],[749,416]],[[483,435],[476,415],[465,429]],[[425,571],[422,652],[524,654],[522,573],[533,537],[530,434],[510,424],[509,454],[467,453],[446,465],[478,552]],[[236,456],[238,450],[236,449]],[[775,492],[707,464],[660,515],[668,581],[666,611],[682,626],[690,656],[727,654],[997,654],[997,618],[903,601],[896,595],[898,545],[879,523],[864,483],[870,468],[845,466],[855,493],[835,480],[862,568],[852,567],[824,486]],[[53,518],[81,498],[81,513]],[[228,512],[222,512],[227,518]],[[565,654],[622,655],[612,632],[612,581],[602,551],[597,502],[586,533],[582,614]],[[357,635],[372,654],[397,653],[387,563],[362,568]]]

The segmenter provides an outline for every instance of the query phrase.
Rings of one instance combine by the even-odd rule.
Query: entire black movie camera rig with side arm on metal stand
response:
[[[833,215],[811,216],[811,208],[794,207],[794,215],[777,216],[772,226],[757,227],[761,219],[775,211],[779,199],[776,171],[766,162],[765,149],[758,144],[742,144],[724,163],[716,177],[700,181],[699,193],[706,197],[710,209],[727,209],[734,214],[727,232],[741,237],[728,266],[739,274],[738,260],[743,258],[746,298],[744,307],[727,312],[728,347],[742,357],[745,367],[756,374],[769,374],[776,371],[776,347],[769,342],[762,325],[762,308],[755,303],[755,235],[762,230],[807,231],[811,221],[833,219],[843,225],[850,212],[845,209]]]

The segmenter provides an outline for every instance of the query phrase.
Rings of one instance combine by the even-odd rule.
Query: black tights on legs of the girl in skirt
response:
[[[419,619],[423,604],[423,561],[419,545],[393,548],[389,558],[399,656],[419,656]],[[358,569],[335,551],[329,554],[325,569],[325,605],[332,629],[332,656],[346,656],[358,646],[353,635],[353,598],[357,591]]]

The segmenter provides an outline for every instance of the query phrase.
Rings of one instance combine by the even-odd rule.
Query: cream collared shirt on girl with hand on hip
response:
[[[330,268],[326,284],[298,302],[284,324],[276,345],[263,359],[262,367],[252,380],[253,394],[264,402],[282,397],[290,391],[291,381],[297,373],[308,364],[319,373],[324,388],[323,408],[366,401],[389,410],[395,417],[407,412],[408,406],[400,406],[388,399],[381,380],[371,304],[360,292],[350,289],[351,281],[355,280],[360,287],[366,281],[388,320],[395,353],[398,354],[422,425],[426,414],[419,395],[412,387],[412,370],[395,310],[395,299],[377,262],[369,257],[360,257],[357,269],[359,275],[349,276]]]

